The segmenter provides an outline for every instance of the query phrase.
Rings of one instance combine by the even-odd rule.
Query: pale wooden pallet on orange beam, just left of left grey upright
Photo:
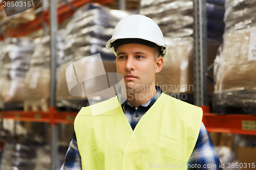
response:
[[[24,111],[49,111],[48,101],[24,101]]]

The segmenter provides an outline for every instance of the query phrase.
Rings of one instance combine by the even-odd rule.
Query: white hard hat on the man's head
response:
[[[112,38],[106,43],[106,48],[111,48],[115,55],[116,40],[122,40],[119,42],[119,46],[125,43],[139,43],[148,46],[157,44],[161,57],[164,58],[168,54],[168,46],[163,39],[161,29],[154,20],[144,15],[131,15],[118,22]]]

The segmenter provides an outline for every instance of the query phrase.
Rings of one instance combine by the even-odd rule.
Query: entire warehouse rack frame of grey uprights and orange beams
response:
[[[80,7],[88,2],[96,2],[99,4],[106,4],[113,2],[114,0],[74,0],[71,3],[74,7]],[[53,3],[53,1],[51,1]],[[125,8],[124,1],[119,1],[119,8]],[[208,132],[220,132],[220,133],[237,133],[237,134],[249,134],[256,135],[256,116],[251,115],[218,115],[209,113],[208,94],[207,94],[207,42],[206,42],[206,0],[194,0],[195,7],[195,67],[194,67],[194,89],[195,89],[195,105],[203,108],[203,123]],[[54,13],[53,4],[51,4],[52,12]],[[0,10],[3,7],[0,4]],[[55,9],[56,10],[56,9]],[[36,19],[19,25],[17,28],[9,29],[5,33],[11,37],[25,36],[36,30],[42,28],[42,22],[49,24],[49,18],[51,21],[51,33],[57,30],[57,24],[73,15],[74,10],[68,5],[62,5],[55,11],[56,16],[50,17],[48,10],[42,10],[44,17],[41,14],[36,15]],[[55,20],[54,20],[55,19]],[[54,43],[54,37],[52,36],[52,42]],[[52,63],[55,63],[54,56],[56,47],[52,46]],[[74,124],[74,119],[77,112],[59,112],[55,110],[55,70],[54,65],[51,72],[51,108],[48,112],[24,112],[17,110],[0,111],[0,118],[11,118],[17,121],[25,122],[44,122],[49,123],[52,127],[52,162],[56,162],[56,149],[57,149],[57,129],[56,124]],[[249,124],[249,126],[246,126]],[[255,129],[253,129],[255,128]],[[55,163],[52,164],[52,169],[56,169]]]

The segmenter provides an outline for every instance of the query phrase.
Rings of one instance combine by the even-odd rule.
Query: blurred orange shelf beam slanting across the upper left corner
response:
[[[87,4],[89,2],[95,2],[99,3],[101,5],[108,4],[110,2],[113,2],[116,0],[74,0],[71,3],[73,6],[76,8],[79,8],[80,6]],[[3,4],[0,4],[0,9],[3,10]],[[63,20],[71,17],[74,14],[74,10],[71,9],[70,6],[68,5],[62,5],[58,7],[57,9],[57,16],[58,16],[58,23],[61,23]],[[45,20],[47,21],[47,25],[49,25],[49,12],[48,10],[45,11]],[[21,23],[18,27],[13,28],[13,29],[8,29],[5,30],[5,33],[8,34],[10,37],[21,37],[21,36],[26,36],[27,34],[30,34],[34,31],[37,31],[42,28],[42,17],[41,13],[38,13],[36,15],[36,18],[33,21],[30,21],[29,23]]]

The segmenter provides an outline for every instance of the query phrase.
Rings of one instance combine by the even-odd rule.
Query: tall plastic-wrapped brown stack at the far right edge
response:
[[[256,2],[227,0],[225,7],[223,49],[215,60],[214,108],[225,112],[223,108],[247,107],[246,112],[255,113]]]

